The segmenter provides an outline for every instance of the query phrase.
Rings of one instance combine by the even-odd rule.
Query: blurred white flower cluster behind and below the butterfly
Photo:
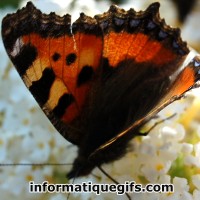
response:
[[[60,4],[58,4],[60,2]],[[65,1],[66,2],[66,1]],[[94,1],[78,4],[80,9],[96,10]],[[43,11],[50,9],[46,1],[33,1]],[[51,4],[50,4],[51,3]],[[48,1],[54,11],[61,12],[64,1]],[[55,7],[55,5],[57,7]],[[107,3],[105,3],[107,5]],[[103,4],[101,4],[103,7]],[[48,8],[47,8],[48,7]],[[130,5],[129,7],[133,7]],[[100,9],[100,8],[99,8]],[[105,8],[104,10],[107,10]],[[50,11],[50,10],[49,10]],[[82,10],[83,11],[83,10]],[[0,18],[7,12],[1,11]],[[66,12],[66,11],[65,11]],[[72,11],[73,12],[73,11]],[[11,66],[0,40],[0,194],[1,199],[50,199],[64,200],[66,194],[30,194],[28,182],[66,182],[65,173],[71,166],[3,166],[11,163],[72,163],[76,148],[65,141],[48,122],[33,97]],[[133,149],[121,160],[103,166],[107,173],[120,183],[134,180],[136,183],[173,183],[174,193],[132,194],[134,200],[198,200],[200,196],[200,125],[194,114],[199,109],[199,99],[192,97],[170,105],[160,118],[175,113],[174,118],[157,125],[148,136],[132,141]],[[187,108],[190,104],[191,108]],[[194,121],[193,117],[197,118]],[[152,120],[151,127],[156,120]],[[184,126],[183,126],[184,125]],[[189,134],[189,135],[188,135]],[[98,169],[93,175],[75,182],[93,181],[110,183]],[[47,195],[47,196],[46,196]],[[74,194],[70,199],[127,199],[115,194]]]

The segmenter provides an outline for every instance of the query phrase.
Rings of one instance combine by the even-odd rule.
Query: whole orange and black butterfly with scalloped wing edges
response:
[[[68,178],[123,157],[159,111],[198,87],[200,56],[159,16],[112,5],[94,17],[43,14],[31,2],[2,21],[5,49],[49,120],[78,147]]]

